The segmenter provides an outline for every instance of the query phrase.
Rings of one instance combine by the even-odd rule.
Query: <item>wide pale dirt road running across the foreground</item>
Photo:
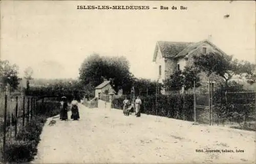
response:
[[[255,132],[79,107],[79,121],[48,120],[33,163],[255,163]]]

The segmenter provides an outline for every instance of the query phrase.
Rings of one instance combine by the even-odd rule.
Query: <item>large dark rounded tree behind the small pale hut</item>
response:
[[[95,87],[103,82],[103,78],[112,79],[111,84],[117,92],[120,87],[129,89],[131,82],[130,64],[125,57],[101,57],[93,54],[79,68],[79,79],[83,85]]]

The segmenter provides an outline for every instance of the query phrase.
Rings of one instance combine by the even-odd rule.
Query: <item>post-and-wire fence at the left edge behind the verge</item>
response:
[[[5,161],[6,143],[11,143],[36,114],[36,97],[7,96],[0,97],[0,159]],[[2,142],[3,141],[3,142]]]

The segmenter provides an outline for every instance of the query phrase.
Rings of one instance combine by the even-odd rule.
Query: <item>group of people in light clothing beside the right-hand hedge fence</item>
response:
[[[137,117],[140,116],[140,106],[141,106],[142,102],[139,98],[139,96],[137,97],[137,99],[135,100],[135,103],[131,103],[127,97],[125,97],[125,100],[123,101],[123,114],[124,115],[129,115],[131,109],[135,109],[135,115]]]

